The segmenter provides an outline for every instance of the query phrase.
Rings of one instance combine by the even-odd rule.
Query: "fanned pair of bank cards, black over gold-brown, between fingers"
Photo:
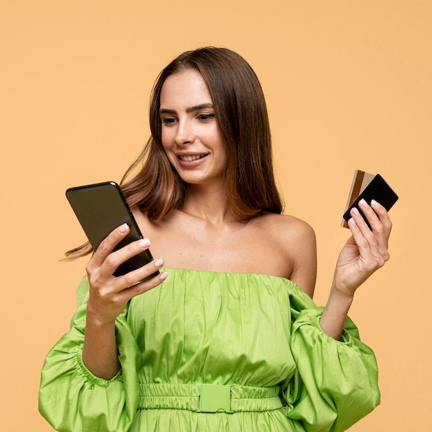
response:
[[[351,185],[351,190],[348,195],[348,208],[343,216],[342,224],[344,227],[348,227],[346,222],[348,222],[351,217],[351,208],[356,207],[366,224],[371,228],[371,225],[362,213],[362,210],[359,208],[358,203],[361,199],[364,199],[369,205],[371,204],[371,201],[375,199],[376,202],[379,202],[387,211],[389,211],[395,202],[397,202],[399,197],[381,177],[381,175],[371,175],[369,173],[364,173],[364,171],[356,170],[354,173],[353,184]]]

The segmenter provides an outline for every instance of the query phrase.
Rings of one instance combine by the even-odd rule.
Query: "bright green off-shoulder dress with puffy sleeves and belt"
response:
[[[70,331],[43,366],[39,410],[58,431],[344,431],[380,401],[377,365],[346,320],[280,277],[166,269],[117,318],[121,371],[81,359],[88,281]],[[283,402],[282,402],[283,401]]]

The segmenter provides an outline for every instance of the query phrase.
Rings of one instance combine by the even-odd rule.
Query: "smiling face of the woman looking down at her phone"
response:
[[[226,150],[206,81],[195,69],[170,75],[161,89],[162,144],[187,184],[221,185]]]

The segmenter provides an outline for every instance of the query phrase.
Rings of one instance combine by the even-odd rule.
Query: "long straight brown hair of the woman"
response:
[[[264,212],[282,213],[261,85],[243,57],[226,48],[213,47],[184,52],[159,74],[150,97],[150,139],[121,180],[128,203],[141,208],[152,220],[184,205],[186,184],[170,165],[162,146],[159,108],[166,78],[187,68],[202,74],[213,99],[226,145],[226,197],[233,214],[239,221],[247,222]],[[73,259],[90,251],[87,247],[84,252],[83,245],[67,255]]]

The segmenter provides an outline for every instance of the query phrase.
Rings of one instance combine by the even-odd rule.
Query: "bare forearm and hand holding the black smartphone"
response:
[[[155,268],[163,266],[162,259],[156,259],[123,276],[112,275],[122,262],[150,246],[148,239],[141,239],[112,252],[128,231],[126,224],[112,231],[86,266],[90,291],[82,358],[93,375],[105,379],[113,377],[120,367],[115,319],[132,297],[155,288],[166,278],[166,273],[162,273],[146,282],[137,283],[155,273]]]

